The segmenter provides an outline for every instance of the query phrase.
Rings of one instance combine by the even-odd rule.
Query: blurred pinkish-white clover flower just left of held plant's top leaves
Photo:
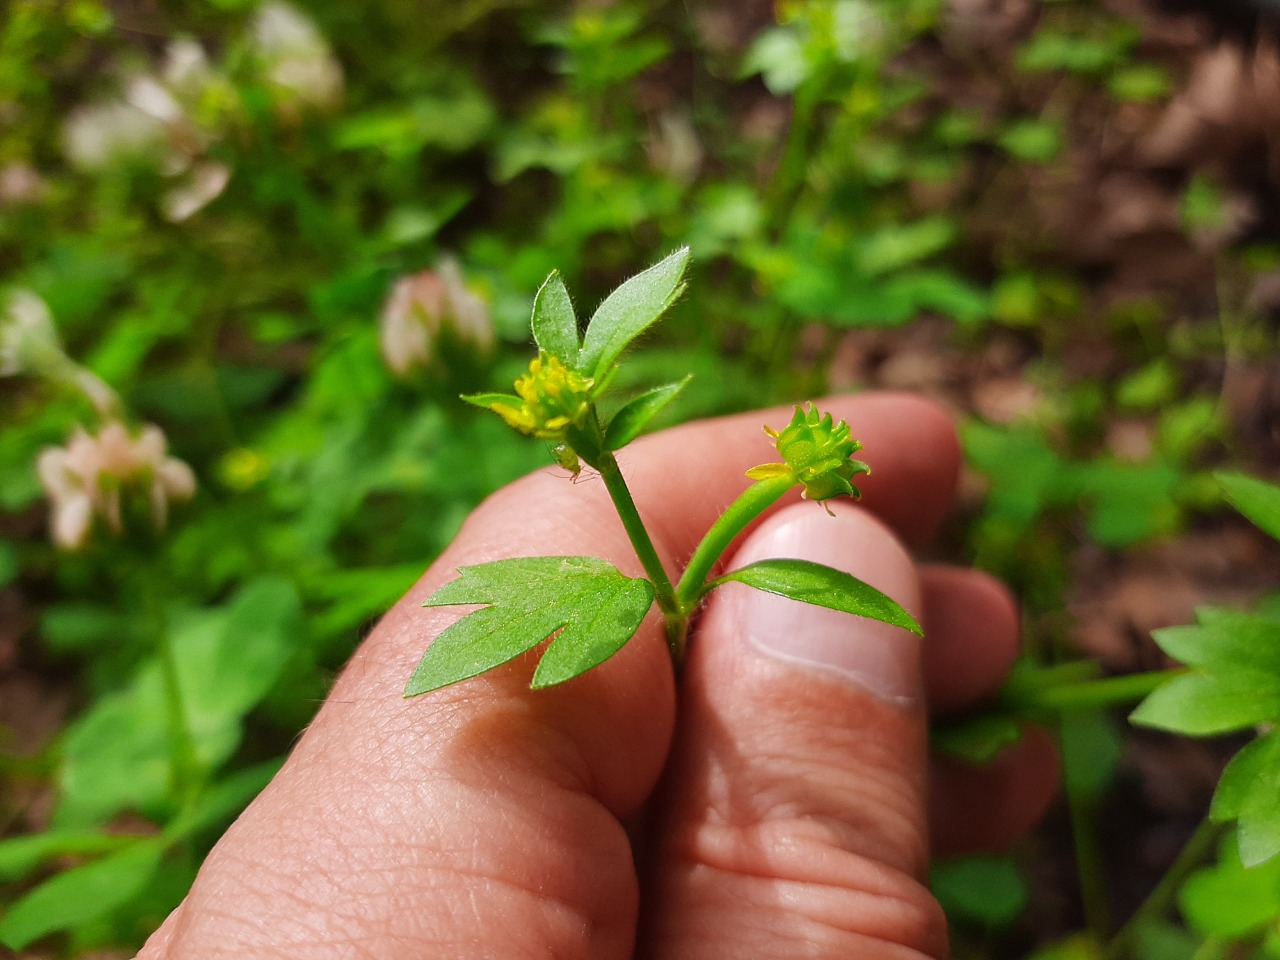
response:
[[[434,270],[402,276],[392,288],[379,325],[383,358],[393,374],[406,376],[430,366],[435,342],[445,333],[481,353],[494,343],[489,308],[467,289],[452,257]]]

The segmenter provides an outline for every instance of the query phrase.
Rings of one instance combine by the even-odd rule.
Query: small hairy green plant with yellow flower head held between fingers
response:
[[[678,579],[668,576],[645,530],[614,453],[631,443],[680,393],[686,380],[658,387],[609,419],[596,402],[627,346],[657,323],[685,289],[682,248],[618,287],[579,338],[568,291],[553,273],[534,301],[538,356],[516,380],[515,394],[465,397],[529,436],[550,442],[557,462],[575,475],[599,472],[648,577],[628,577],[595,557],[520,557],[462,567],[424,605],[484,604],[444,630],[408,681],[406,696],[438,690],[493,669],[553,637],[534,672],[534,687],[563,684],[599,666],[635,636],[654,603],[662,611],[673,660],[684,655],[689,620],[717,586],[735,581],[803,603],[844,611],[920,632],[897,603],[819,563],[767,559],[712,576],[717,561],[755,517],[794,486],[812,500],[858,497],[852,479],[869,467],[845,421],[812,404],[796,407],[782,430],[765,428],[780,462],[748,471],[755,483],[712,525]]]

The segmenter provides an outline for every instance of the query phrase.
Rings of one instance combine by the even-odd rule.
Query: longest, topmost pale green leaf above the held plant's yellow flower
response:
[[[605,297],[586,326],[579,372],[600,380],[627,344],[676,302],[687,265],[689,247],[681,247]]]

